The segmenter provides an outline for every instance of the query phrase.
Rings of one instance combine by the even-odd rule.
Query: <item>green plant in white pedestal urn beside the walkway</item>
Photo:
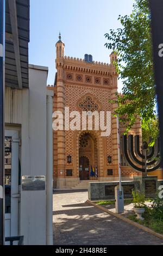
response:
[[[133,203],[134,203],[134,212],[137,215],[137,219],[143,221],[144,218],[142,217],[142,214],[145,212],[146,205],[145,205],[145,193],[140,192],[137,190],[132,191],[133,194]]]

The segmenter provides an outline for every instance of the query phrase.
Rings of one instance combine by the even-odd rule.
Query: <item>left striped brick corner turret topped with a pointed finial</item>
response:
[[[57,69],[57,110],[65,115],[65,87],[64,87],[64,50],[65,44],[59,41],[56,46],[56,69]],[[64,127],[65,130],[65,127]],[[58,184],[57,187],[65,186],[65,131],[58,131]]]

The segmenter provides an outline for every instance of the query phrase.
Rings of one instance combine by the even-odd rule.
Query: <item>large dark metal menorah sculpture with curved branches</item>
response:
[[[143,142],[140,150],[139,135],[136,135],[135,138],[133,135],[129,135],[128,143],[127,135],[123,135],[123,154],[131,168],[139,170],[139,172],[145,173],[145,175],[161,166],[159,138],[151,148],[148,147],[147,142]]]

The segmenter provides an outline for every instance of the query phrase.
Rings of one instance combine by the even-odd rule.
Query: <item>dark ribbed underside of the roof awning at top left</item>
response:
[[[5,2],[5,86],[28,88],[29,0]]]

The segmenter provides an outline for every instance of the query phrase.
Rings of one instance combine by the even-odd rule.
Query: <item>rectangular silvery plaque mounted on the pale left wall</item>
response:
[[[22,176],[23,191],[45,190],[45,176]]]

